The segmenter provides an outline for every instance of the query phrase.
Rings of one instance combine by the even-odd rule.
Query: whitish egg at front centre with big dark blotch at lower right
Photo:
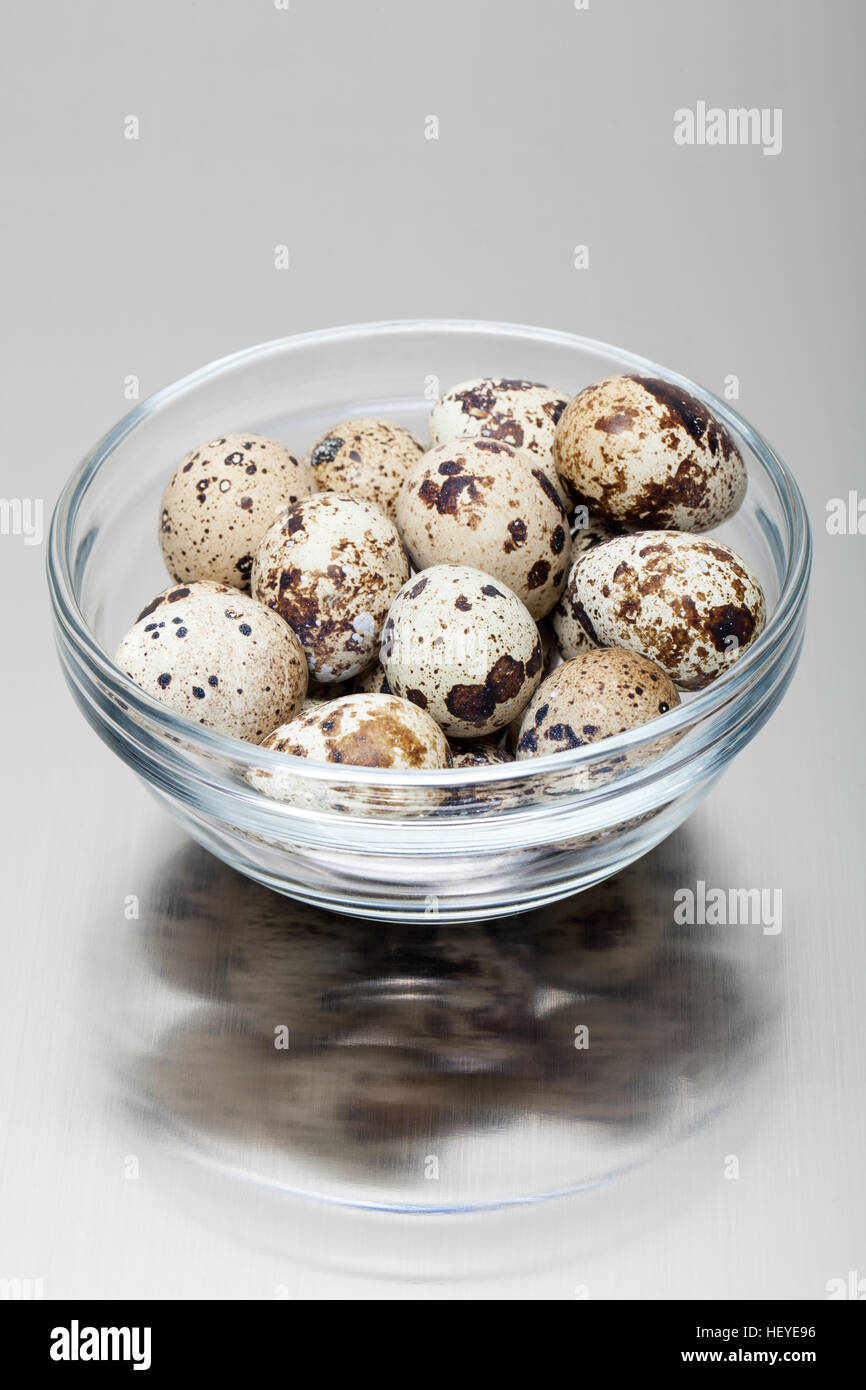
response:
[[[379,660],[392,691],[449,738],[477,739],[528,702],[542,651],[532,617],[505,584],[464,564],[436,564],[393,600]]]

